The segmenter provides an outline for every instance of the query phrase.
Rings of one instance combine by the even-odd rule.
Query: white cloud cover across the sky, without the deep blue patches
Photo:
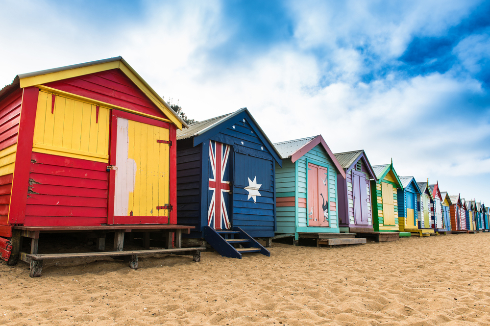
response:
[[[231,33],[218,1],[152,2],[143,23],[110,33],[42,2],[24,3],[31,8],[23,13],[29,23],[17,24],[22,9],[8,2],[8,13],[0,10],[0,27],[11,32],[0,35],[0,44],[8,45],[0,59],[10,64],[0,68],[0,82],[122,55],[159,94],[179,100],[190,118],[205,120],[246,106],[273,142],[322,134],[335,152],[365,149],[372,164],[393,157],[398,173],[420,180],[430,176],[431,182],[439,178],[441,187],[454,176],[475,180],[479,175],[488,182],[490,155],[484,144],[490,128],[485,121],[469,122],[452,107],[468,94],[482,95],[479,82],[455,78],[453,71],[409,79],[393,72],[368,84],[359,81],[371,67],[357,47],[374,51],[379,56],[374,64],[382,64],[400,55],[415,33],[441,34],[468,13],[460,1],[426,2],[386,12],[363,2],[333,8],[293,2],[295,42],[230,66],[209,60]],[[485,42],[468,38],[457,48],[468,70],[476,69]],[[481,53],[471,50],[474,44]],[[324,59],[313,54],[317,47],[325,51]],[[328,86],[321,87],[324,78]]]

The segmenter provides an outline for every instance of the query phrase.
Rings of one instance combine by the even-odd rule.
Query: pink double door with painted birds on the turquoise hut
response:
[[[308,226],[328,226],[328,169],[308,163]]]

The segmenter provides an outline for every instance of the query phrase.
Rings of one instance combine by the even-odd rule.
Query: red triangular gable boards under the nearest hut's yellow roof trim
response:
[[[53,81],[45,85],[89,99],[167,118],[119,69]]]

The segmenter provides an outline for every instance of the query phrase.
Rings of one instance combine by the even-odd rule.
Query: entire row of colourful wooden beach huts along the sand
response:
[[[106,233],[115,251],[138,233],[196,260],[193,244],[241,258],[270,255],[274,238],[489,229],[481,202],[371,165],[364,150],[333,153],[321,135],[274,144],[246,108],[186,125],[122,57],[16,76],[0,91],[0,157],[0,254],[31,268],[49,258],[40,233],[90,232],[100,251]]]

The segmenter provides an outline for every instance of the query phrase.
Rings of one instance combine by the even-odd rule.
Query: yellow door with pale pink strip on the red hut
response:
[[[163,206],[170,203],[169,129],[117,121],[114,216],[155,217],[128,218],[128,223],[168,223]]]

